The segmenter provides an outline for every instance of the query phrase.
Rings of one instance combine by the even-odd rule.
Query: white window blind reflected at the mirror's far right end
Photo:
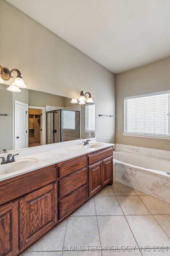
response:
[[[95,104],[86,105],[86,131],[95,131]]]

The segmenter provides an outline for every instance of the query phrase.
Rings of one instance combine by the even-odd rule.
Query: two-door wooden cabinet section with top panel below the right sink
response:
[[[88,197],[113,184],[113,148],[88,154]]]

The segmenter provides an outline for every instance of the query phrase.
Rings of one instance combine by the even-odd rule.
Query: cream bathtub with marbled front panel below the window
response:
[[[170,160],[125,151],[113,153],[115,180],[170,203]]]

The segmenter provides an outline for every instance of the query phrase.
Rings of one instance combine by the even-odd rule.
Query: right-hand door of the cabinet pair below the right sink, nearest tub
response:
[[[103,186],[113,182],[113,157],[103,160]]]

